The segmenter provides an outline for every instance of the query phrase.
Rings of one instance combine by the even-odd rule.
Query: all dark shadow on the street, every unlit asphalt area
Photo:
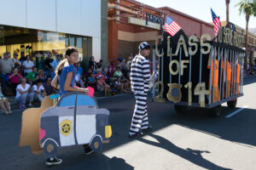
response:
[[[148,94],[148,97],[149,96],[150,94]],[[113,150],[114,148],[127,144],[132,140],[136,140],[128,138],[129,128],[131,126],[131,116],[135,105],[135,99],[132,95],[125,95],[110,99],[99,99],[98,104],[100,105],[100,108],[106,108],[111,112],[109,121],[113,129],[113,137],[110,139],[110,143],[103,144],[103,153],[106,150]],[[256,140],[254,136],[256,127],[254,120],[256,119],[256,115],[251,113],[255,113],[256,111],[252,109],[245,109],[242,111],[243,116],[234,116],[231,118],[232,121],[230,121],[230,119],[226,119],[224,116],[228,114],[228,112],[236,111],[236,109],[239,108],[236,108],[235,110],[230,110],[227,107],[222,108],[222,112],[224,114],[218,118],[208,117],[204,111],[197,111],[195,109],[190,110],[188,113],[177,115],[174,111],[173,105],[153,103],[151,102],[151,98],[148,98],[149,123],[153,125],[154,132],[176,124],[195,131],[200,131],[201,133],[212,134],[220,139],[255,146]],[[24,168],[26,166],[37,166],[38,169],[45,169],[44,156],[33,156],[30,149],[19,147],[20,122],[20,112],[16,112],[12,116],[0,116],[0,136],[4,137],[0,140],[1,153],[3,153],[0,155],[0,164],[3,164],[4,166],[9,164],[9,167],[14,167],[14,165],[17,165],[18,167],[22,164]],[[159,140],[160,144],[144,139],[142,140],[147,144],[155,144],[156,146],[169,150],[177,156],[182,156],[184,159],[187,159],[198,166],[206,168],[211,167],[212,169],[225,169],[224,167],[218,167],[218,165],[215,165],[210,161],[204,160],[201,157],[201,153],[205,151],[191,149],[183,150],[160,136],[153,135],[152,137]],[[84,169],[102,168],[104,170],[133,169],[133,167],[125,163],[125,160],[122,158],[109,158],[103,154],[86,156],[84,158],[79,155],[79,153],[81,153],[80,146],[74,147],[74,150],[64,150],[65,153],[62,152],[58,155],[63,158],[63,163],[60,166],[54,167],[54,169],[64,169],[66,167],[70,169],[73,166],[79,167],[79,169],[81,169],[80,167],[84,167]],[[24,157],[21,157],[22,155],[24,155]],[[15,162],[12,160],[15,160]]]

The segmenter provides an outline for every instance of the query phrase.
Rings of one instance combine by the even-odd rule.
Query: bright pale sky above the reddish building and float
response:
[[[225,0],[137,0],[154,8],[170,7],[184,14],[189,14],[197,19],[206,22],[212,22],[211,9],[220,17],[221,21],[226,20]],[[230,0],[230,22],[246,27],[245,14],[239,15],[238,7],[235,7],[240,0]],[[170,16],[172,17],[172,16]],[[256,17],[251,16],[249,19],[249,28],[256,28]]]

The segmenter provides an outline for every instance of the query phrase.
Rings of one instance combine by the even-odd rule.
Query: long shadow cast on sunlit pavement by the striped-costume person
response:
[[[177,147],[177,145],[172,144],[172,142],[170,142],[165,138],[160,137],[159,135],[150,133],[148,134],[148,136],[151,136],[152,138],[156,139],[158,142],[154,142],[154,141],[143,139],[143,138],[139,138],[137,140],[144,142],[146,144],[151,144],[151,145],[160,147],[162,149],[168,150],[172,154],[183,157],[183,159],[190,161],[199,167],[204,167],[206,169],[214,169],[214,170],[230,170],[230,168],[219,167],[218,165],[212,163],[211,161],[207,161],[201,156],[201,153],[204,153],[204,152],[210,153],[209,151],[192,150],[190,148],[183,150],[182,148]]]

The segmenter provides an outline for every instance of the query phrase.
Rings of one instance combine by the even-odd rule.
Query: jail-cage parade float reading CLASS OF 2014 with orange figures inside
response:
[[[207,34],[187,37],[181,30],[171,37],[164,31],[153,48],[153,70],[158,73],[154,102],[172,102],[177,113],[190,106],[207,108],[212,116],[220,115],[225,102],[235,108],[243,95],[242,42],[243,36],[228,25],[213,40]]]

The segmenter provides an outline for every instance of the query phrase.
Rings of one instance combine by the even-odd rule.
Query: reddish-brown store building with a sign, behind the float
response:
[[[154,45],[166,15],[172,17],[187,36],[209,34],[214,37],[212,24],[173,8],[154,8],[134,0],[108,0],[108,59],[116,60],[119,54],[128,59],[131,53],[138,53],[138,44],[143,41]]]

